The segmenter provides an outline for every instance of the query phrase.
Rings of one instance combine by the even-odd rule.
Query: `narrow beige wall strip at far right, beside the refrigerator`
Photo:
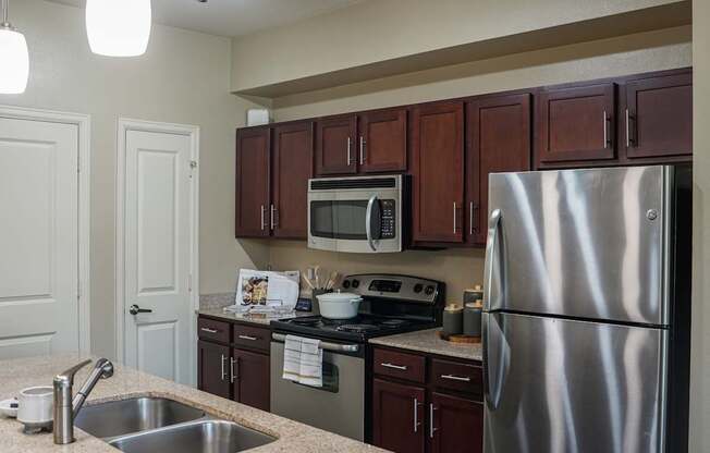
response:
[[[690,452],[710,451],[710,2],[693,1]]]

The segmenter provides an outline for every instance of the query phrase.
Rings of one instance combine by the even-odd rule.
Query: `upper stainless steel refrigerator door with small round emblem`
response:
[[[668,325],[672,167],[490,175],[485,309]]]

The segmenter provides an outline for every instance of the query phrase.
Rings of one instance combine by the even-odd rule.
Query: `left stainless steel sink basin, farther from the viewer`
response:
[[[196,420],[205,413],[176,401],[135,397],[85,406],[75,426],[97,438],[113,438]]]

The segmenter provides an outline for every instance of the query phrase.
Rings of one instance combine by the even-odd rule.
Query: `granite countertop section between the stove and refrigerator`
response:
[[[450,357],[465,358],[468,360],[482,359],[480,343],[461,344],[441,340],[437,331],[441,329],[419,330],[416,332],[400,333],[390,336],[371,339],[371,344],[397,347],[401,350],[419,351],[423,353],[445,355]]]

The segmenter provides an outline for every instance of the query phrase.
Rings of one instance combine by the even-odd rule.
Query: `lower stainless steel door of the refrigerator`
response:
[[[483,314],[485,452],[653,453],[665,329]]]

